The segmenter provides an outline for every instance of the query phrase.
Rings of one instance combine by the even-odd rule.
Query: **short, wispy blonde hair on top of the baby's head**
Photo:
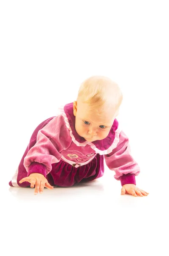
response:
[[[110,107],[117,110],[122,102],[123,95],[118,84],[105,76],[91,76],[79,88],[77,101],[90,106]]]

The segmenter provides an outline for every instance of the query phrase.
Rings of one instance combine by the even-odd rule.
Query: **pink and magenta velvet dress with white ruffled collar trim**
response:
[[[117,119],[104,140],[87,142],[76,133],[73,103],[69,103],[59,109],[57,116],[43,121],[34,130],[9,185],[30,186],[29,182],[19,181],[34,172],[43,174],[52,186],[95,180],[104,174],[104,159],[121,185],[136,184],[135,175],[140,169]]]

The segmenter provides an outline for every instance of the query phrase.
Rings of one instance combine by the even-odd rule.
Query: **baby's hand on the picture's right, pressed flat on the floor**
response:
[[[143,196],[143,195],[148,195],[146,191],[139,189],[136,187],[134,184],[125,184],[123,185],[121,189],[121,195],[124,195],[125,193],[134,195],[134,196]]]

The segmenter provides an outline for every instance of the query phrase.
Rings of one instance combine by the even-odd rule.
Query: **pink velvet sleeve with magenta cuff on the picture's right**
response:
[[[104,155],[105,162],[110,170],[115,172],[115,179],[124,184],[135,184],[135,176],[140,173],[140,168],[130,153],[129,139],[123,131],[119,134],[117,146]]]

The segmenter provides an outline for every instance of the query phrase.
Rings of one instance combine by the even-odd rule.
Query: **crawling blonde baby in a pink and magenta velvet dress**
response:
[[[136,186],[140,169],[115,119],[122,98],[118,84],[109,78],[86,79],[76,101],[35,129],[9,185],[35,186],[35,195],[44,187],[73,186],[103,176],[105,159],[121,181],[121,195],[148,195]]]

